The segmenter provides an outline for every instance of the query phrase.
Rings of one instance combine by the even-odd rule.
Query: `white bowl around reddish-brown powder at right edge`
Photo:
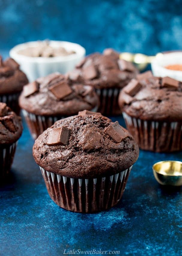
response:
[[[154,76],[169,76],[178,81],[182,81],[182,71],[170,70],[165,68],[168,65],[182,64],[182,52],[169,52],[157,54],[151,63],[152,73]]]

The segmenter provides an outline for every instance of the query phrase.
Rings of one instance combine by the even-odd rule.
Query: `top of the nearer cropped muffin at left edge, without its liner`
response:
[[[21,117],[0,102],[0,145],[16,142],[22,134]]]

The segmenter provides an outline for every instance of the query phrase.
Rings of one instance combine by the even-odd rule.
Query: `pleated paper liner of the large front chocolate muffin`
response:
[[[73,179],[40,167],[49,196],[60,207],[75,212],[97,212],[121,199],[132,166],[115,175],[97,179]]]

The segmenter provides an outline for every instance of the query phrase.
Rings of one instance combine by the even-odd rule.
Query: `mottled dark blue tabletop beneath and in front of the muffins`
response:
[[[119,121],[124,125],[122,118]],[[49,198],[32,157],[33,140],[25,123],[24,127],[11,184],[0,189],[1,256],[59,256],[64,255],[64,249],[117,250],[120,255],[139,256],[181,255],[182,188],[160,186],[152,165],[160,160],[181,160],[182,152],[140,151],[117,206],[97,214],[73,213],[59,208]]]

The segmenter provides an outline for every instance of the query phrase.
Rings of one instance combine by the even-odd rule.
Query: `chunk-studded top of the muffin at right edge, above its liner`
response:
[[[142,120],[182,120],[182,83],[170,77],[139,74],[120,92],[119,106]]]

